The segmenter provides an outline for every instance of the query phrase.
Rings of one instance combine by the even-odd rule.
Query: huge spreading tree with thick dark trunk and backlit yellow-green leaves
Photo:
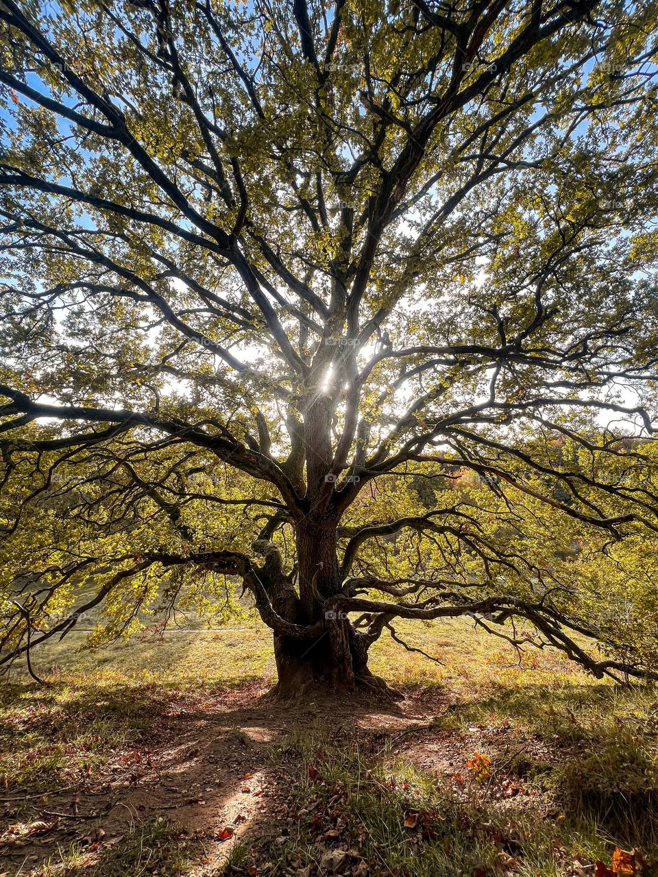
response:
[[[4,660],[227,575],[281,695],[397,617],[650,672],[592,607],[658,532],[654,4],[0,23]]]

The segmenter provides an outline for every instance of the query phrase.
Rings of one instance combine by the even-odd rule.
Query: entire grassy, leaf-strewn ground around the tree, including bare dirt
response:
[[[47,687],[0,687],[0,873],[656,873],[654,689],[465,621],[399,632],[437,661],[376,645],[390,709],[259,700],[260,626],[35,651]]]

